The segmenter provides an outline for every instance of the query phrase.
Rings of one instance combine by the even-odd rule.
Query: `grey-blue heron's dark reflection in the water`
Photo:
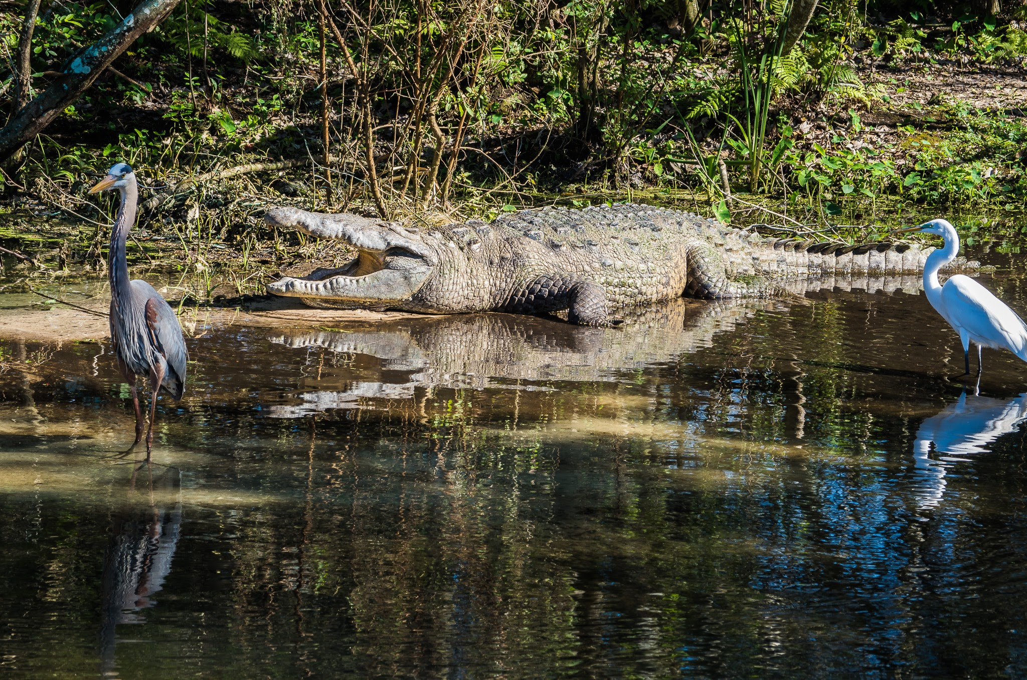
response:
[[[117,677],[117,626],[144,624],[143,609],[156,604],[154,595],[172,570],[182,524],[182,480],[177,468],[132,471],[125,504],[111,518],[104,555],[101,591],[101,674]]]

